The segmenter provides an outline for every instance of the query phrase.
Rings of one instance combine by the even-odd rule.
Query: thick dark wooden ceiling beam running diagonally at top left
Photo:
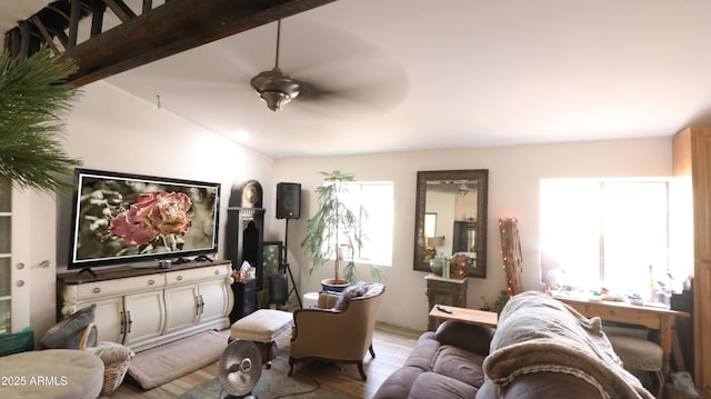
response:
[[[171,0],[70,44],[60,58],[77,62],[70,81],[82,86],[333,1]]]

